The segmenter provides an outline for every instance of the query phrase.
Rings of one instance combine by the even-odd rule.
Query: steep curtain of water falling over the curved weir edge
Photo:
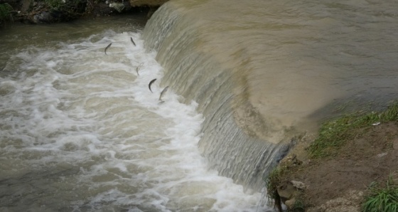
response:
[[[182,95],[185,103],[198,102],[205,116],[198,145],[210,169],[258,190],[286,154],[291,137],[272,132],[273,126],[249,102],[248,58],[242,50],[213,51],[201,24],[188,11],[164,4],[144,29],[146,47],[158,51],[156,60],[165,69],[161,84]],[[283,135],[266,140],[257,133],[261,131],[269,137]]]

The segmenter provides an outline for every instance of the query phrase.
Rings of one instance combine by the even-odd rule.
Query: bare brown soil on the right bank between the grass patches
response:
[[[307,211],[360,211],[362,196],[372,182],[398,179],[398,123],[357,129],[357,136],[328,159],[305,159],[286,180],[306,185]],[[298,158],[300,153],[298,153]]]

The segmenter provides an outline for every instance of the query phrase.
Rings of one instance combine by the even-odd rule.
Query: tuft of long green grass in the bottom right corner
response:
[[[394,184],[390,176],[385,186],[377,183],[369,186],[369,194],[362,203],[362,212],[397,212],[398,211],[398,185]]]

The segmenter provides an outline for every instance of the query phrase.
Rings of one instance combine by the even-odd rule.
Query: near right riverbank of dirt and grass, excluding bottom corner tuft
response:
[[[305,137],[270,174],[271,198],[291,211],[361,211],[370,187],[398,181],[398,105],[345,115]],[[380,186],[380,187],[379,187]],[[277,203],[277,201],[276,201]]]

